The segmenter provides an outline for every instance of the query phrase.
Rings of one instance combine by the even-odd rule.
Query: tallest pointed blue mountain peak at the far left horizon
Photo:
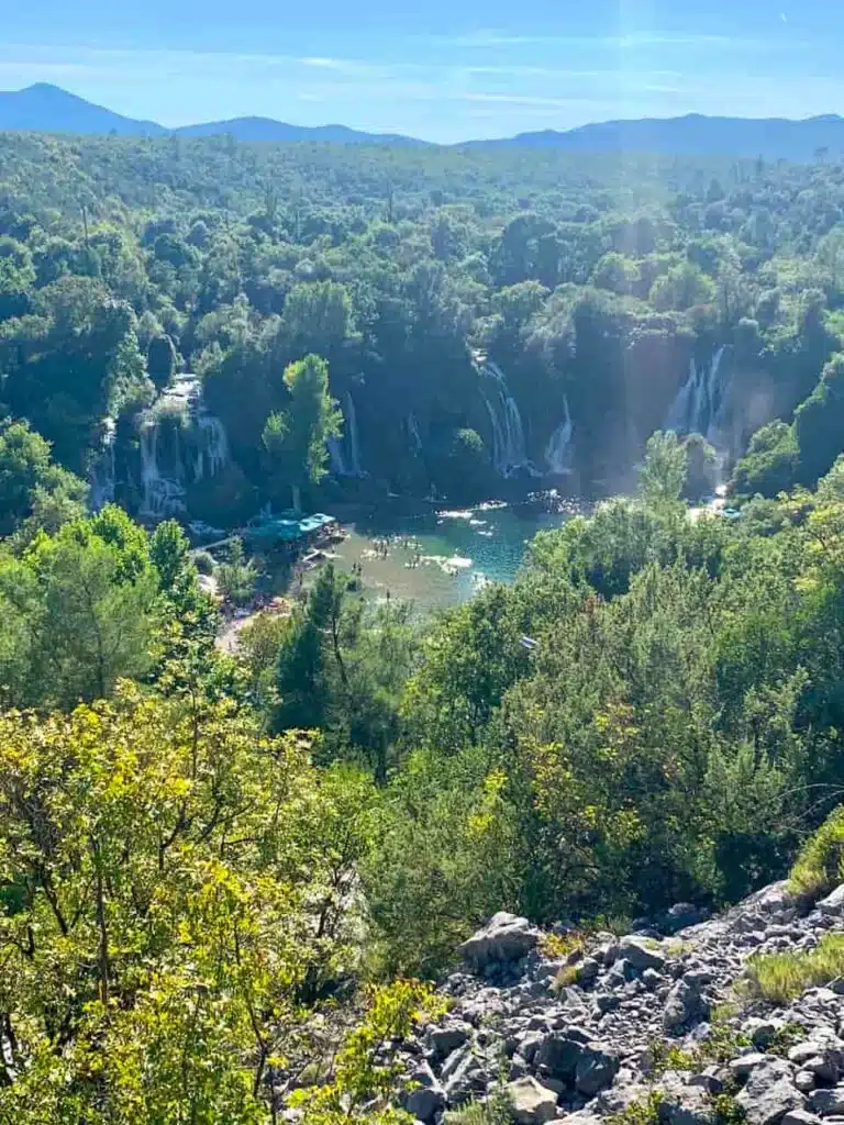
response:
[[[113,114],[48,82],[26,90],[0,91],[0,130],[30,133],[117,133],[122,136],[162,136],[155,122],[136,122]]]

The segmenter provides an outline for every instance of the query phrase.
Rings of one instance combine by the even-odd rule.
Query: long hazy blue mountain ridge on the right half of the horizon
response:
[[[834,114],[781,117],[686,117],[603,122],[556,133],[520,133],[502,141],[473,141],[473,148],[555,148],[563,152],[645,152],[673,156],[764,156],[810,161],[820,150],[844,154],[844,118]]]

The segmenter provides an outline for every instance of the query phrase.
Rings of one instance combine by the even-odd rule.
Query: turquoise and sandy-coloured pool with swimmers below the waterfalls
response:
[[[348,528],[338,562],[347,570],[360,566],[371,596],[411,601],[430,613],[465,602],[487,582],[512,582],[533,536],[577,512],[573,502],[554,506],[491,501],[425,515],[385,508]]]

